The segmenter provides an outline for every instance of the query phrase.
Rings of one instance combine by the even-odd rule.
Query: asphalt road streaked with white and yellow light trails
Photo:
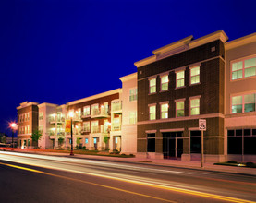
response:
[[[256,177],[0,151],[0,202],[255,202]]]

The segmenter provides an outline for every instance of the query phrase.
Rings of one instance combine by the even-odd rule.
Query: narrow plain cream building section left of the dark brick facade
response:
[[[137,152],[137,73],[120,78],[122,81],[122,151],[125,154]],[[113,108],[113,107],[112,107]]]

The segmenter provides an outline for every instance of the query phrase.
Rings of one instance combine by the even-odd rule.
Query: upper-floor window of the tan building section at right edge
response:
[[[232,80],[256,76],[256,57],[231,63]]]

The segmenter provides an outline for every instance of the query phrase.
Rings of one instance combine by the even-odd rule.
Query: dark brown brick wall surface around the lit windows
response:
[[[215,46],[215,51],[211,48]],[[212,59],[213,57],[216,57]],[[212,113],[224,113],[224,76],[225,63],[224,44],[221,41],[210,42],[186,52],[170,56],[150,65],[138,68],[138,152],[146,151],[146,130],[157,130],[156,137],[162,137],[160,129],[184,128],[184,137],[189,137],[189,128],[198,127],[198,119],[181,120],[175,122],[161,122],[151,124],[140,124],[149,121],[148,104],[156,103],[156,119],[160,119],[160,102],[169,102],[169,118],[176,117],[177,99],[185,100],[185,116],[189,116],[189,97],[199,96],[200,115]],[[201,62],[206,60],[205,62]],[[201,63],[200,82],[201,84],[189,86],[189,65]],[[185,88],[176,90],[176,73],[178,67],[186,66]],[[149,95],[148,77],[155,76],[166,71],[169,72],[169,90],[160,92],[160,77],[157,76],[156,94]],[[224,119],[221,117],[207,118],[207,131],[204,132],[205,153],[223,154]],[[207,138],[208,137],[208,138]],[[218,138],[220,137],[220,138]],[[163,139],[156,138],[156,152],[163,151]],[[183,152],[189,153],[189,138],[183,141]]]

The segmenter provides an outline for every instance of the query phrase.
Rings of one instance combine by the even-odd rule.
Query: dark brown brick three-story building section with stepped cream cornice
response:
[[[154,50],[138,68],[138,156],[224,161],[224,31]]]

